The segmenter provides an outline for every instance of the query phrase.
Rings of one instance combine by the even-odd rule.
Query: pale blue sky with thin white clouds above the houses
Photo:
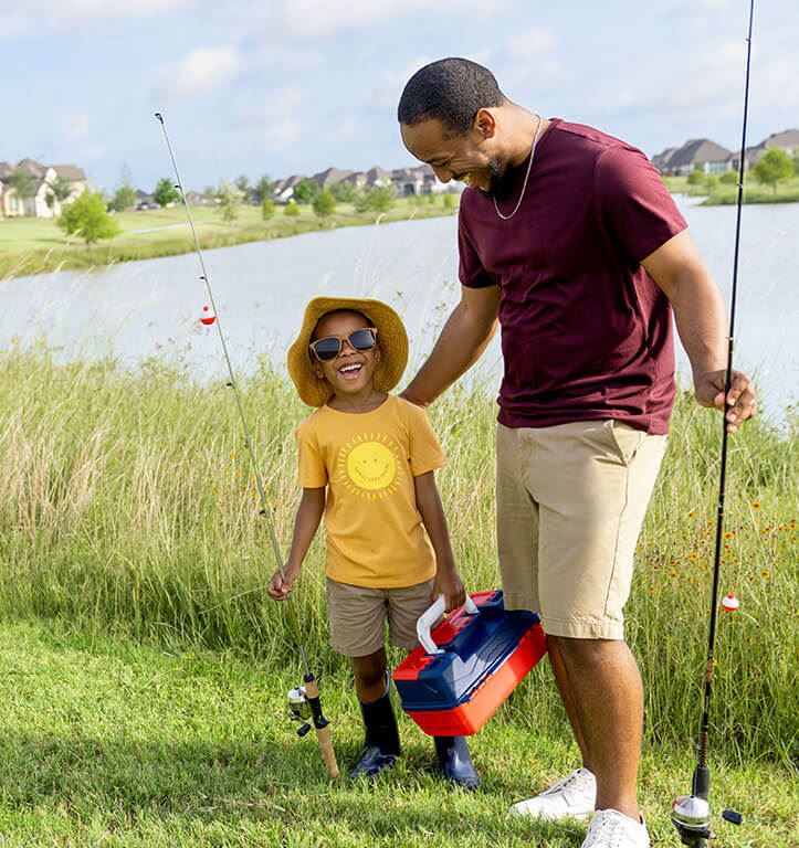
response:
[[[758,0],[747,141],[799,128],[799,3]],[[748,0],[0,0],[0,161],[183,183],[412,165],[396,107],[423,64],[652,156],[740,146]]]

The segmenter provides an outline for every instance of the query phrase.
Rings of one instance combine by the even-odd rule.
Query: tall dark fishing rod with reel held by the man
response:
[[[733,343],[735,338],[735,303],[738,290],[738,248],[740,246],[740,211],[744,204],[744,165],[746,161],[746,121],[749,110],[749,67],[751,63],[751,24],[755,17],[755,0],[749,0],[749,29],[746,38],[746,83],[744,86],[744,120],[738,159],[738,198],[735,221],[735,251],[733,256],[733,288],[729,298],[729,336],[727,340],[727,371],[724,380],[724,406],[722,411],[722,462],[718,483],[718,512],[716,518],[716,549],[713,560],[713,591],[711,597],[711,626],[707,637],[707,664],[705,666],[705,698],[700,724],[700,750],[696,767],[691,781],[691,795],[682,795],[672,805],[672,823],[683,845],[705,848],[715,834],[711,830],[711,770],[707,765],[707,743],[711,723],[711,691],[713,687],[713,651],[716,642],[716,617],[718,614],[718,579],[722,561],[722,538],[724,530],[724,492],[727,477],[727,395],[733,382]],[[735,595],[727,595],[722,606],[735,611],[738,606]],[[740,813],[734,809],[722,812],[722,818],[734,825],[742,822]]]

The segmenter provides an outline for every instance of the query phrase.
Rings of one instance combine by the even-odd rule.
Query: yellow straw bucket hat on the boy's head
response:
[[[286,359],[288,375],[299,398],[308,406],[324,406],[330,398],[330,386],[314,372],[308,344],[319,318],[337,309],[362,312],[370,326],[377,329],[380,362],[375,369],[375,388],[378,391],[390,392],[399,383],[408,364],[408,333],[402,319],[390,306],[369,298],[315,297],[305,307],[299,336],[288,348]]]

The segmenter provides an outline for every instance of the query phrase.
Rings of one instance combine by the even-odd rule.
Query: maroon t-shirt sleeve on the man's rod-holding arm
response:
[[[660,173],[640,150],[606,150],[597,161],[595,191],[604,225],[634,263],[687,226]]]

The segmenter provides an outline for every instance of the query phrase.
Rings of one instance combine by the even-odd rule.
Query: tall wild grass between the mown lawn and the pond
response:
[[[285,547],[298,494],[292,431],[306,410],[265,367],[242,389]],[[113,361],[56,364],[46,350],[0,353],[0,614],[296,662],[265,592],[274,564],[229,392],[223,379],[200,386],[156,362],[132,373]],[[496,586],[495,405],[462,390],[431,415],[450,457],[440,485],[462,574],[473,591]],[[681,396],[628,608],[651,742],[696,729],[718,443],[717,416]],[[722,590],[742,606],[719,619],[713,708],[730,757],[796,756],[796,471],[790,414],[787,432],[755,421],[733,438]],[[295,603],[314,662],[337,672],[318,539]],[[514,714],[561,721],[545,664],[534,675],[542,686],[516,697]]]

